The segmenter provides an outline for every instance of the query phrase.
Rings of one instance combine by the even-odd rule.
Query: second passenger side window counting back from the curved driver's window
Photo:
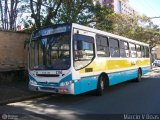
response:
[[[120,57],[120,51],[117,39],[109,38],[109,48],[111,57]]]

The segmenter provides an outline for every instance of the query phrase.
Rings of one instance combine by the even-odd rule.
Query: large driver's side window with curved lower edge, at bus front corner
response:
[[[74,35],[74,67],[76,70],[87,66],[94,58],[94,39],[90,36]]]

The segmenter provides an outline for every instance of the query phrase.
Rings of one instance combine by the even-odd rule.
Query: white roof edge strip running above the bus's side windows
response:
[[[146,43],[143,43],[143,42],[132,40],[132,39],[122,37],[122,36],[119,36],[119,35],[115,35],[115,34],[112,34],[112,33],[109,33],[109,32],[104,32],[104,31],[101,31],[101,30],[98,30],[98,29],[95,29],[95,28],[79,25],[79,24],[76,24],[76,23],[72,23],[72,27],[77,28],[77,29],[81,29],[81,30],[94,32],[94,33],[101,34],[101,35],[105,35],[105,36],[112,37],[112,38],[117,38],[117,39],[128,41],[128,42],[131,42],[131,43],[136,43],[136,44],[140,44],[140,45],[149,46],[149,44],[146,44]]]

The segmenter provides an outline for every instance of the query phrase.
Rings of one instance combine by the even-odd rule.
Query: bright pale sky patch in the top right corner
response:
[[[130,6],[148,17],[160,17],[160,0],[129,0]],[[152,19],[160,27],[160,18]]]

